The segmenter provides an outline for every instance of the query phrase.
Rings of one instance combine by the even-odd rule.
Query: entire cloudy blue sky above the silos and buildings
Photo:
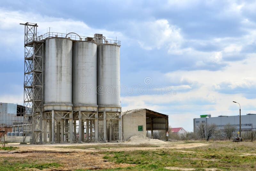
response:
[[[121,41],[122,110],[193,131],[200,115],[256,113],[256,2],[0,1],[0,102],[23,104],[24,26]],[[126,91],[128,90],[128,91]]]

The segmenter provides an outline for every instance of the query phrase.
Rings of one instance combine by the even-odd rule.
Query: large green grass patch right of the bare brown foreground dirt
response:
[[[165,167],[195,168],[196,170],[218,168],[218,170],[228,171],[252,171],[256,170],[255,145],[256,143],[251,142],[212,142],[209,146],[190,149],[109,151],[100,153],[105,155],[104,159],[115,163],[135,164],[134,167],[107,169],[106,171],[169,170]],[[245,155],[244,153],[251,153],[252,155]]]

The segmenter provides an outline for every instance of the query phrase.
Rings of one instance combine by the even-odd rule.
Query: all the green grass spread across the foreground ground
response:
[[[189,143],[185,146],[189,147]],[[196,143],[196,141],[194,142]],[[200,142],[199,145],[202,142]],[[105,171],[137,171],[137,170],[156,170],[156,171],[168,171],[166,167],[180,167],[180,168],[195,168],[197,171],[203,171],[208,168],[216,168],[216,171],[254,171],[256,170],[256,143],[252,142],[240,142],[233,143],[229,141],[223,142],[208,142],[206,146],[198,146],[196,148],[183,148],[183,149],[172,149],[168,148],[169,144],[165,144],[165,147],[158,147],[154,150],[136,150],[136,151],[124,151],[119,146],[113,144],[113,147],[120,147],[119,151],[105,149],[104,151],[97,152],[80,152],[81,156],[89,156],[98,159],[100,156],[102,160],[106,160],[106,163],[111,164],[112,162],[120,165],[118,168],[105,169]],[[172,144],[170,144],[172,145]],[[86,147],[85,147],[86,146]],[[111,148],[112,144],[102,145],[85,145],[85,146],[66,146],[65,148]],[[138,145],[134,145],[138,147]],[[145,145],[141,145],[145,146]],[[151,147],[152,145],[148,145]],[[127,145],[124,144],[126,148]],[[132,145],[133,147],[133,145]],[[54,157],[53,157],[54,156]],[[76,152],[70,152],[70,157],[76,159],[80,157]],[[56,160],[55,154],[48,155],[47,160],[38,160],[37,158],[13,158],[13,157],[0,157],[0,170],[28,170],[28,169],[50,169],[54,170],[56,167],[67,167],[70,161],[63,162],[59,154],[58,160]],[[42,158],[43,159],[43,158]],[[86,159],[86,157],[85,157]],[[111,163],[109,163],[111,162]],[[59,164],[58,164],[59,163]],[[102,162],[104,166],[105,162]],[[78,163],[77,163],[78,164]],[[92,163],[92,166],[95,166]],[[96,165],[98,166],[98,165]],[[124,167],[126,166],[126,167]],[[121,168],[124,167],[124,168]],[[82,166],[76,167],[76,171],[85,171]],[[106,168],[106,167],[99,167]],[[61,168],[58,168],[61,169]],[[175,170],[175,168],[174,168]]]

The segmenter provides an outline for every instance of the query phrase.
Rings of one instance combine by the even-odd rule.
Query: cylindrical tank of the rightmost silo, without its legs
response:
[[[120,106],[120,46],[99,44],[97,47],[98,105]]]

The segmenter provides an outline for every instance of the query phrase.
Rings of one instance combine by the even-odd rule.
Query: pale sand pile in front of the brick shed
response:
[[[130,137],[127,142],[132,143],[132,144],[144,144],[144,143],[150,143],[150,144],[163,144],[166,143],[165,141],[159,140],[159,139],[151,139],[148,138],[144,135],[136,135]]]

